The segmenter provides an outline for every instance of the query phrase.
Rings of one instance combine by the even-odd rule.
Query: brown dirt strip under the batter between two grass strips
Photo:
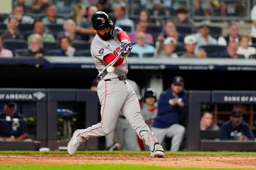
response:
[[[129,154],[1,154],[0,164],[134,164],[166,167],[211,167],[256,169],[256,156],[194,156],[166,155],[150,158],[149,155]]]

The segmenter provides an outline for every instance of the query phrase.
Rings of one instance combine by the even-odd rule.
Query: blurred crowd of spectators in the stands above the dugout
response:
[[[134,8],[138,17],[130,14],[129,2],[124,0],[76,0],[72,6],[68,6],[69,3],[58,7],[60,2],[67,3],[61,0],[14,0],[12,14],[0,17],[3,41],[0,56],[90,56],[94,37],[91,16],[96,11],[105,11],[115,26],[128,32],[134,44],[131,56],[256,58],[255,6],[251,10],[249,36],[239,33],[239,24],[235,21],[229,21],[227,35],[222,35],[222,28],[213,26],[210,20],[196,24],[190,18],[185,1],[132,1],[132,7],[128,7]],[[197,0],[193,3],[195,15],[204,16],[244,16],[248,5]],[[31,48],[33,37],[37,37],[41,44],[38,48]],[[63,48],[62,37],[68,37],[69,48]],[[7,49],[10,51],[6,52]],[[39,52],[42,55],[38,55]]]

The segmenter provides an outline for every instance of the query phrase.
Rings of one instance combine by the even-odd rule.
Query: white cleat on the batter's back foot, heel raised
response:
[[[82,144],[84,141],[86,141],[87,139],[85,140],[82,140],[81,137],[78,136],[78,131],[79,129],[77,129],[74,133],[73,133],[73,136],[72,138],[70,139],[69,143],[68,143],[68,147],[67,147],[67,150],[68,150],[68,153],[70,155],[74,155],[76,150],[78,149],[79,145]]]

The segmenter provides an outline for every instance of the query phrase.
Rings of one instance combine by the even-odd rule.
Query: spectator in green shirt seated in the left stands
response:
[[[55,41],[55,38],[52,34],[44,32],[44,25],[43,25],[42,21],[36,20],[33,24],[33,28],[34,28],[35,33],[30,34],[28,36],[28,47],[30,46],[31,38],[36,34],[41,36],[42,41],[48,41],[48,42]]]

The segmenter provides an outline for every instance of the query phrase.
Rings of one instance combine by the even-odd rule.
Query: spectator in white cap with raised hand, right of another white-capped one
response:
[[[196,48],[196,37],[194,35],[187,35],[184,38],[184,48],[186,53],[180,55],[180,58],[206,58],[206,52],[204,49],[201,49],[198,53],[195,53]]]

